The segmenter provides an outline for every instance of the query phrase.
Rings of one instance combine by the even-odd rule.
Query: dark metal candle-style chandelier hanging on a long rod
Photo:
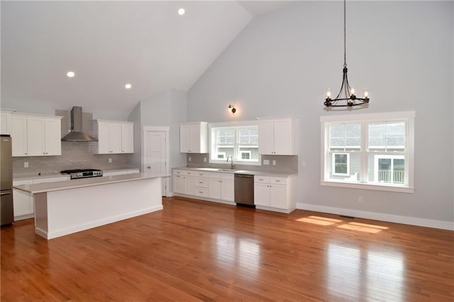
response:
[[[347,43],[346,43],[346,29],[345,29],[345,0],[343,0],[343,77],[342,77],[342,86],[341,91],[335,99],[331,99],[331,91],[328,89],[326,92],[326,99],[323,104],[326,107],[351,107],[364,105],[369,103],[369,92],[364,91],[364,96],[358,98],[355,94],[355,89],[350,87],[348,84],[347,77]]]

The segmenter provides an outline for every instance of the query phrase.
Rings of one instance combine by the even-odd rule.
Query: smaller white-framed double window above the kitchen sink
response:
[[[210,162],[224,163],[231,156],[242,164],[260,164],[256,122],[212,123],[209,132]]]

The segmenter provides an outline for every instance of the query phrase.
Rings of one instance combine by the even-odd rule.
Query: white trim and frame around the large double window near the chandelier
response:
[[[321,186],[338,186],[343,188],[352,188],[352,189],[370,189],[370,190],[379,190],[379,191],[394,191],[402,193],[414,193],[414,119],[416,113],[415,111],[399,111],[391,113],[365,113],[365,114],[349,114],[349,115],[337,115],[337,116],[321,116],[320,125],[321,125],[321,160],[320,160],[320,184]],[[406,135],[407,146],[405,150],[406,155],[406,164],[408,172],[408,185],[396,185],[396,184],[377,184],[367,181],[367,165],[363,164],[361,169],[361,179],[362,182],[345,182],[345,181],[336,181],[335,179],[325,179],[325,176],[328,175],[328,164],[329,160],[327,158],[328,152],[325,148],[328,145],[329,135],[326,133],[326,123],[352,123],[358,122],[367,125],[367,123],[374,121],[396,121],[396,120],[406,120],[407,122],[407,131]],[[367,127],[361,128],[361,144],[362,150],[367,150]],[[362,152],[361,162],[367,162],[368,152]]]

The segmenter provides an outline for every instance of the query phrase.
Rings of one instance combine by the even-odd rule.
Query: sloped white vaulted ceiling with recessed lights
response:
[[[148,96],[187,91],[254,16],[288,3],[1,1],[1,107],[126,119]]]

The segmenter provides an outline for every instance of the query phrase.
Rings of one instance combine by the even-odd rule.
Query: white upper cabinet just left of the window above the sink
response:
[[[208,152],[208,123],[194,122],[179,125],[179,152]]]

